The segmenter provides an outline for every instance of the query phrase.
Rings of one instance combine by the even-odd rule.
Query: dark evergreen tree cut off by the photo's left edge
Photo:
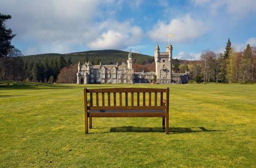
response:
[[[11,18],[11,15],[0,13],[0,58],[6,56],[10,52],[10,49],[14,48],[11,45],[11,40],[16,35],[12,34],[12,30],[7,29],[5,26],[5,21]]]

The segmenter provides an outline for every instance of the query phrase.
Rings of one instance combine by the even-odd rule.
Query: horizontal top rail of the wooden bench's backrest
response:
[[[129,92],[166,92],[166,89],[154,88],[108,88],[108,89],[90,89],[88,93],[129,93]]]

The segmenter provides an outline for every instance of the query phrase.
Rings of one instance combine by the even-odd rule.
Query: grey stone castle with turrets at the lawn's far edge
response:
[[[165,52],[160,52],[158,44],[155,48],[156,72],[134,72],[133,54],[128,54],[127,64],[91,65],[78,63],[77,84],[89,83],[187,83],[188,73],[172,73],[173,46],[166,45]]]

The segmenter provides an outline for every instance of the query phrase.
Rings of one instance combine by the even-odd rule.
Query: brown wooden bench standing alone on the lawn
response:
[[[166,100],[163,99],[164,94]],[[165,128],[168,134],[169,88],[84,88],[84,116],[86,134],[88,134],[88,118],[89,127],[92,128],[93,117],[161,117],[162,128]]]

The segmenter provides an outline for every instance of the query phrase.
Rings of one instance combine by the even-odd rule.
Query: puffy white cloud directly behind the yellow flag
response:
[[[153,30],[148,32],[151,39],[158,42],[167,42],[168,34],[173,34],[170,38],[174,42],[184,42],[198,38],[207,31],[202,21],[194,20],[189,15],[182,18],[170,20],[169,23],[158,21]]]

